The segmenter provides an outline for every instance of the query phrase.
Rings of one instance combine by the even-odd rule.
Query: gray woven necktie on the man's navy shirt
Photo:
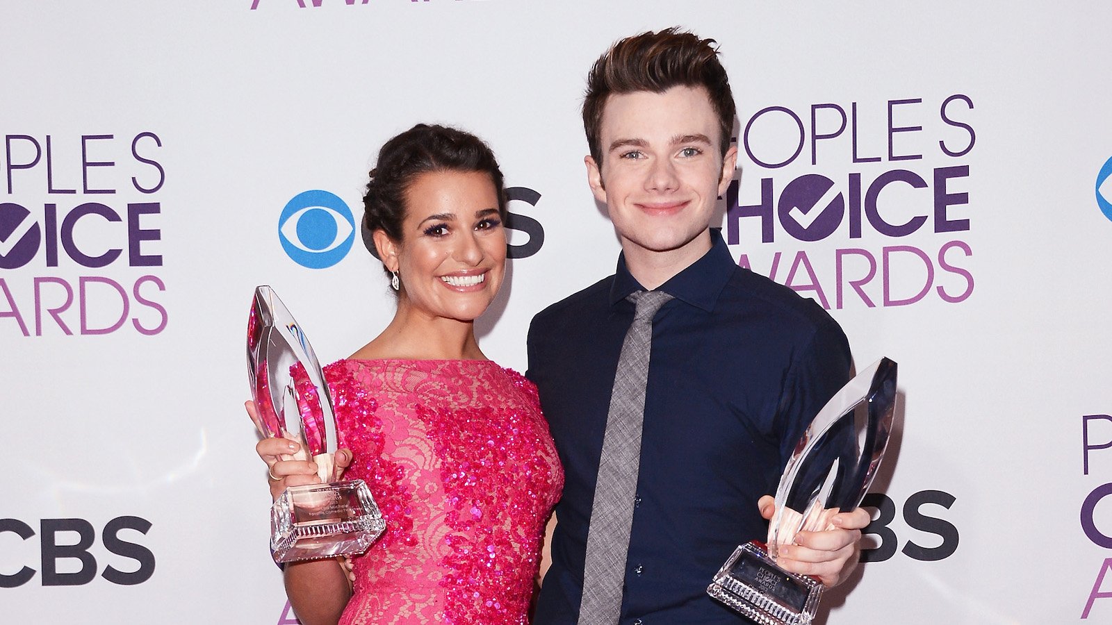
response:
[[[645,416],[653,317],[672,296],[664,291],[636,291],[627,299],[637,306],[637,311],[622,344],[606,416],[603,455],[587,529],[580,625],[610,625],[618,622],[622,612],[633,499],[641,468],[641,426]]]

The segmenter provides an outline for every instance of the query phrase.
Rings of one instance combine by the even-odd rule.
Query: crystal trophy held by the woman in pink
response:
[[[291,486],[270,508],[275,562],[360,554],[386,528],[361,479],[337,480],[336,418],[325,375],[305,333],[274,289],[255,289],[247,325],[247,368],[262,436],[300,444],[284,459],[317,464],[320,484]]]

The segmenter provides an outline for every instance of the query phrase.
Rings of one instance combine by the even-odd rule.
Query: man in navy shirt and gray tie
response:
[[[825,310],[737,267],[709,229],[737,160],[733,96],[713,43],[675,29],[646,32],[615,43],[587,79],[587,180],[622,256],[614,276],[550,306],[529,328],[528,375],[565,470],[538,624],[743,622],[706,586],[738,544],[763,539],[773,506],[762,495],[850,377],[848,345]],[[631,463],[610,458],[623,457],[610,430],[625,427],[615,406],[625,410],[626,397],[641,393],[618,381],[628,377],[627,350],[636,351],[623,346],[635,340],[626,335],[639,291],[666,295],[645,321],[639,458],[635,449],[633,477],[622,478],[614,475]],[[622,479],[633,482],[614,486]],[[632,510],[618,538],[599,520],[599,506],[614,498]],[[782,566],[826,585],[843,579],[868,515],[835,519],[837,529],[801,534],[785,547]],[[597,555],[616,543],[619,555]],[[598,579],[606,568],[596,562],[606,557],[617,569]],[[608,593],[613,613],[588,606],[606,604]]]

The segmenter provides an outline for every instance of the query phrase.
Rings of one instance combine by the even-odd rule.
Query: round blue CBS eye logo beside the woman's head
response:
[[[351,250],[355,218],[335,194],[302,191],[278,217],[278,240],[294,262],[310,269],[336,265]]]

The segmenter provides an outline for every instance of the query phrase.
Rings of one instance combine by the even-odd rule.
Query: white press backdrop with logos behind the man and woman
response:
[[[1112,622],[1110,23],[1095,1],[0,0],[0,621],[294,623],[240,408],[251,289],[325,360],[393,300],[357,232],[295,262],[284,207],[321,189],[358,216],[414,122],[484,137],[539,195],[510,205],[481,324],[524,369],[532,315],[618,250],[584,76],[682,24],[737,98],[735,257],[901,365],[875,562],[826,622]]]

